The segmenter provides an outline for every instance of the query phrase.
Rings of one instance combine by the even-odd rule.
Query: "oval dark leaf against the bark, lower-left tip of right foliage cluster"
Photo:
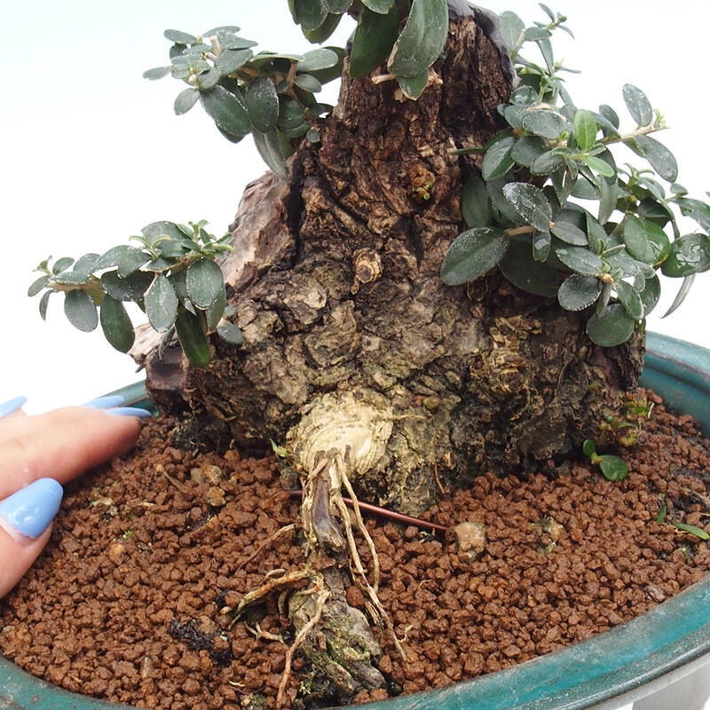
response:
[[[476,279],[501,261],[509,240],[500,229],[480,227],[459,234],[441,264],[441,278],[449,286]]]

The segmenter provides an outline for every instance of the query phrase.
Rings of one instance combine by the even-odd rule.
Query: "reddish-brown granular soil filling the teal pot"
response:
[[[598,634],[710,569],[710,444],[654,401],[629,476],[584,462],[554,479],[478,477],[427,516],[485,524],[479,559],[454,534],[371,517],[380,596],[409,662],[383,641],[382,699],[472,678]],[[304,563],[298,501],[272,459],[194,456],[146,425],[133,454],[67,486],[40,563],[0,603],[0,651],[29,673],[114,702],[170,710],[272,707],[293,631],[278,595],[230,609]],[[657,518],[667,511],[665,522]],[[296,544],[294,544],[296,543]],[[365,548],[363,556],[367,556]],[[359,590],[351,604],[363,606]],[[291,697],[304,659],[296,653]]]

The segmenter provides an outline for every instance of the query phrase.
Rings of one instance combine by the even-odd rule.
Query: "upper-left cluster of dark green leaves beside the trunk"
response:
[[[343,7],[347,0],[329,0],[328,7]],[[338,12],[323,4],[296,0],[292,12],[303,20],[304,32],[319,33],[321,24],[335,29]],[[296,16],[296,15],[295,15]],[[319,24],[321,23],[321,24]],[[331,31],[332,31],[331,29]],[[233,143],[251,133],[264,162],[285,179],[289,140],[317,138],[312,123],[331,106],[319,104],[314,94],[323,83],[341,75],[344,52],[322,47],[301,54],[255,52],[255,42],[244,39],[237,27],[214,28],[201,36],[168,30],[170,66],[149,69],[147,79],[171,75],[188,85],[175,99],[178,115],[200,103],[217,129]]]

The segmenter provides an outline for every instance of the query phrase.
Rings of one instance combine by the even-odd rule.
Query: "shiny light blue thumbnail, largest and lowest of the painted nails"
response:
[[[16,540],[38,538],[57,515],[62,493],[53,478],[39,478],[0,501],[0,525]]]

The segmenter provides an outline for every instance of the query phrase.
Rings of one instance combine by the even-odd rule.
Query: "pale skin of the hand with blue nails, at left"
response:
[[[38,478],[67,481],[126,453],[140,422],[100,409],[68,406],[46,414],[16,412],[0,419],[0,501]],[[14,540],[0,527],[0,598],[28,571],[50,539]]]

